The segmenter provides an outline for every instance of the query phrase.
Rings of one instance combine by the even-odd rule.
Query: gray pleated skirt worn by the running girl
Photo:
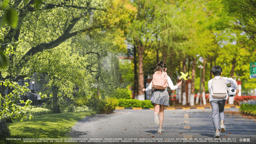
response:
[[[154,104],[160,104],[169,106],[169,94],[167,90],[158,90],[154,89],[152,92],[152,97],[150,99],[152,105]]]

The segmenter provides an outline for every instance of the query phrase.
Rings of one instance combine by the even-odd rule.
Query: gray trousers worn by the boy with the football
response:
[[[224,120],[224,107],[226,104],[226,100],[221,101],[210,101],[212,106],[212,113],[213,113],[213,125],[216,129],[220,130],[220,121]]]

